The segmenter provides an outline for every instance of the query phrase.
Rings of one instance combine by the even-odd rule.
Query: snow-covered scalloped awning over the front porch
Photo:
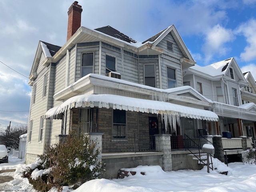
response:
[[[113,108],[142,113],[168,114],[179,117],[218,121],[217,114],[208,110],[181,106],[169,102],[130,98],[110,94],[74,96],[63,102],[60,106],[48,110],[46,112],[46,118],[52,118],[67,109],[80,107]]]

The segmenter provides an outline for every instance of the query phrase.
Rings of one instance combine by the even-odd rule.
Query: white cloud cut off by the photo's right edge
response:
[[[244,52],[240,54],[243,61],[251,61],[256,59],[256,20],[251,19],[248,22],[241,24],[237,30],[237,34],[242,34],[246,38],[248,45],[244,48]]]

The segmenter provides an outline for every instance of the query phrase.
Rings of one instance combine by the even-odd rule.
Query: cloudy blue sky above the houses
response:
[[[0,127],[27,123],[39,40],[66,42],[74,0],[0,0]],[[256,80],[256,0],[78,0],[82,26],[112,26],[143,42],[174,24],[194,60],[234,57]]]

